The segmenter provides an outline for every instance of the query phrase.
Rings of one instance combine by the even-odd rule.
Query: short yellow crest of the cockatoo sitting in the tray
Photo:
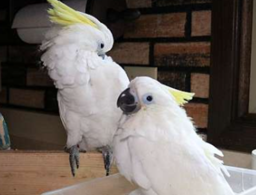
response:
[[[168,87],[164,84],[163,84],[163,86],[175,98],[175,101],[179,105],[184,105],[184,104],[188,103],[188,101],[191,100],[193,98],[193,96],[195,95],[195,93],[179,91],[174,88]]]

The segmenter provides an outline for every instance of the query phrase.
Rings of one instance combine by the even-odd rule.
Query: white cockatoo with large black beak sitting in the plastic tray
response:
[[[114,158],[139,187],[132,195],[234,195],[214,156],[222,152],[197,136],[180,106],[192,96],[148,77],[135,78],[121,93]]]

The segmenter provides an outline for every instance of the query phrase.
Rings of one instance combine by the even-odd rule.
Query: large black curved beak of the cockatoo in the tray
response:
[[[133,114],[139,110],[138,102],[133,94],[130,92],[130,88],[123,91],[117,100],[117,107],[120,107],[125,114]]]

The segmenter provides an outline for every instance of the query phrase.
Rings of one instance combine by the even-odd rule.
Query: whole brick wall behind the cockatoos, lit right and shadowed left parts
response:
[[[126,24],[109,55],[125,65],[158,67],[158,79],[194,100],[185,106],[206,130],[209,97],[210,0],[127,0],[141,17]],[[38,65],[38,45],[0,45],[1,106],[58,113],[56,90]]]

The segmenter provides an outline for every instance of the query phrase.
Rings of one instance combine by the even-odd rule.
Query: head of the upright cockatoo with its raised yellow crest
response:
[[[78,44],[90,52],[105,53],[114,44],[113,35],[107,26],[86,13],[73,10],[58,0],[48,0],[53,6],[48,10],[50,20],[56,24],[46,34],[41,50],[52,45]],[[103,45],[102,45],[103,44]]]

